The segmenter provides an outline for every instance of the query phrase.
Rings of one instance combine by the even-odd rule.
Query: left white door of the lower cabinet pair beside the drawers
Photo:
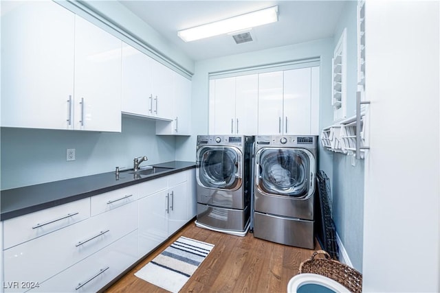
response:
[[[138,200],[139,255],[142,257],[168,237],[168,189]]]

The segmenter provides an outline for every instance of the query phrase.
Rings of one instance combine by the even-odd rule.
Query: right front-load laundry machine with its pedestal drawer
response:
[[[254,237],[314,248],[316,136],[258,136]]]

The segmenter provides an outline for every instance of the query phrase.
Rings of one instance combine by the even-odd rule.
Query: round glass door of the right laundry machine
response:
[[[304,197],[309,194],[310,159],[307,150],[263,149],[259,159],[259,187],[266,194]]]

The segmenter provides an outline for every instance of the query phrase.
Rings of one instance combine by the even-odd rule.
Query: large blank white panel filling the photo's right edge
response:
[[[364,292],[440,292],[439,1],[366,1]]]

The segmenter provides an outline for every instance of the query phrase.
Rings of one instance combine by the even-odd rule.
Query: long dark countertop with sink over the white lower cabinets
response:
[[[41,211],[67,202],[192,169],[195,167],[195,162],[170,161],[153,166],[173,169],[146,176],[130,174],[129,172],[132,171],[120,172],[119,176],[115,172],[107,172],[2,190],[0,191],[0,220],[8,220],[34,211]]]

